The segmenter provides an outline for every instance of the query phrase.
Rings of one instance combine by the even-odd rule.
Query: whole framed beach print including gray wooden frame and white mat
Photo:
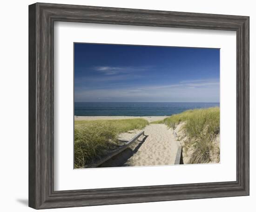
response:
[[[249,17],[29,6],[30,207],[245,195]]]

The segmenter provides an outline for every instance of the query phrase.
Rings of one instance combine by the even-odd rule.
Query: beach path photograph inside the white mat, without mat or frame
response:
[[[74,43],[74,168],[220,162],[220,49]]]

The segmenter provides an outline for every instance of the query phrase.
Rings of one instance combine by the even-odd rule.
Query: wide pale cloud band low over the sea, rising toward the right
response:
[[[133,86],[120,89],[77,89],[76,101],[219,101],[219,81],[215,79],[181,81],[173,85]]]

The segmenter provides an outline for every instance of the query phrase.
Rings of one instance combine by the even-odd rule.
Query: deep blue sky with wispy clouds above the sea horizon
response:
[[[219,102],[213,48],[74,43],[75,102]]]

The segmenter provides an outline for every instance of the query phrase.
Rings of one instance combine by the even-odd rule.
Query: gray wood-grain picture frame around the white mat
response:
[[[236,31],[236,181],[54,191],[54,21]],[[44,3],[29,6],[30,207],[245,195],[249,195],[249,17]]]

